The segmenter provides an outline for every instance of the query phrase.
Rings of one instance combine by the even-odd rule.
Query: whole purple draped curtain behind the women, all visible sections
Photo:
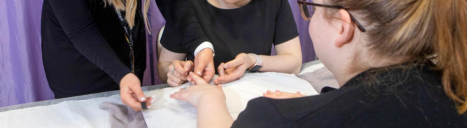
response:
[[[42,0],[0,0],[0,107],[54,99],[45,78],[41,53]],[[297,22],[303,62],[315,54],[296,0],[289,0]],[[165,20],[154,0],[149,10],[152,34],[147,40],[147,68],[143,86],[161,84],[157,76],[156,39]],[[273,51],[272,54],[275,52]]]

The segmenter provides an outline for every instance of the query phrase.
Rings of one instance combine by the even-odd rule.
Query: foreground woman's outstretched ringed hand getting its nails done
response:
[[[209,85],[203,78],[192,72],[190,72],[190,76],[193,79],[192,82],[196,83],[196,85],[186,88],[185,91],[183,88],[180,88],[178,92],[170,94],[170,98],[187,101],[196,108],[198,108],[198,101],[211,100],[226,102],[226,95],[222,90],[222,85]]]

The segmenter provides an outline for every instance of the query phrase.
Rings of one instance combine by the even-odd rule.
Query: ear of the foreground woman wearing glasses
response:
[[[354,36],[354,24],[352,23],[352,19],[350,18],[349,12],[344,9],[339,10],[340,15],[340,33],[339,37],[337,37],[336,41],[334,42],[334,46],[342,47],[344,44],[349,43]]]

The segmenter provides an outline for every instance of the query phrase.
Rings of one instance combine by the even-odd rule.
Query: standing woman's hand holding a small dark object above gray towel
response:
[[[151,107],[153,97],[146,97],[141,89],[141,83],[136,75],[129,73],[120,80],[121,101],[133,108],[135,111],[141,110],[141,102],[148,101],[148,108]]]

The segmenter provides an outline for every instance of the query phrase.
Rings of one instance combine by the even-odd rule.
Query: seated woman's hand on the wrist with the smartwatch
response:
[[[240,79],[245,71],[253,66],[256,57],[251,54],[241,53],[235,59],[227,63],[221,63],[217,68],[219,77],[214,80],[214,84],[228,83]]]

